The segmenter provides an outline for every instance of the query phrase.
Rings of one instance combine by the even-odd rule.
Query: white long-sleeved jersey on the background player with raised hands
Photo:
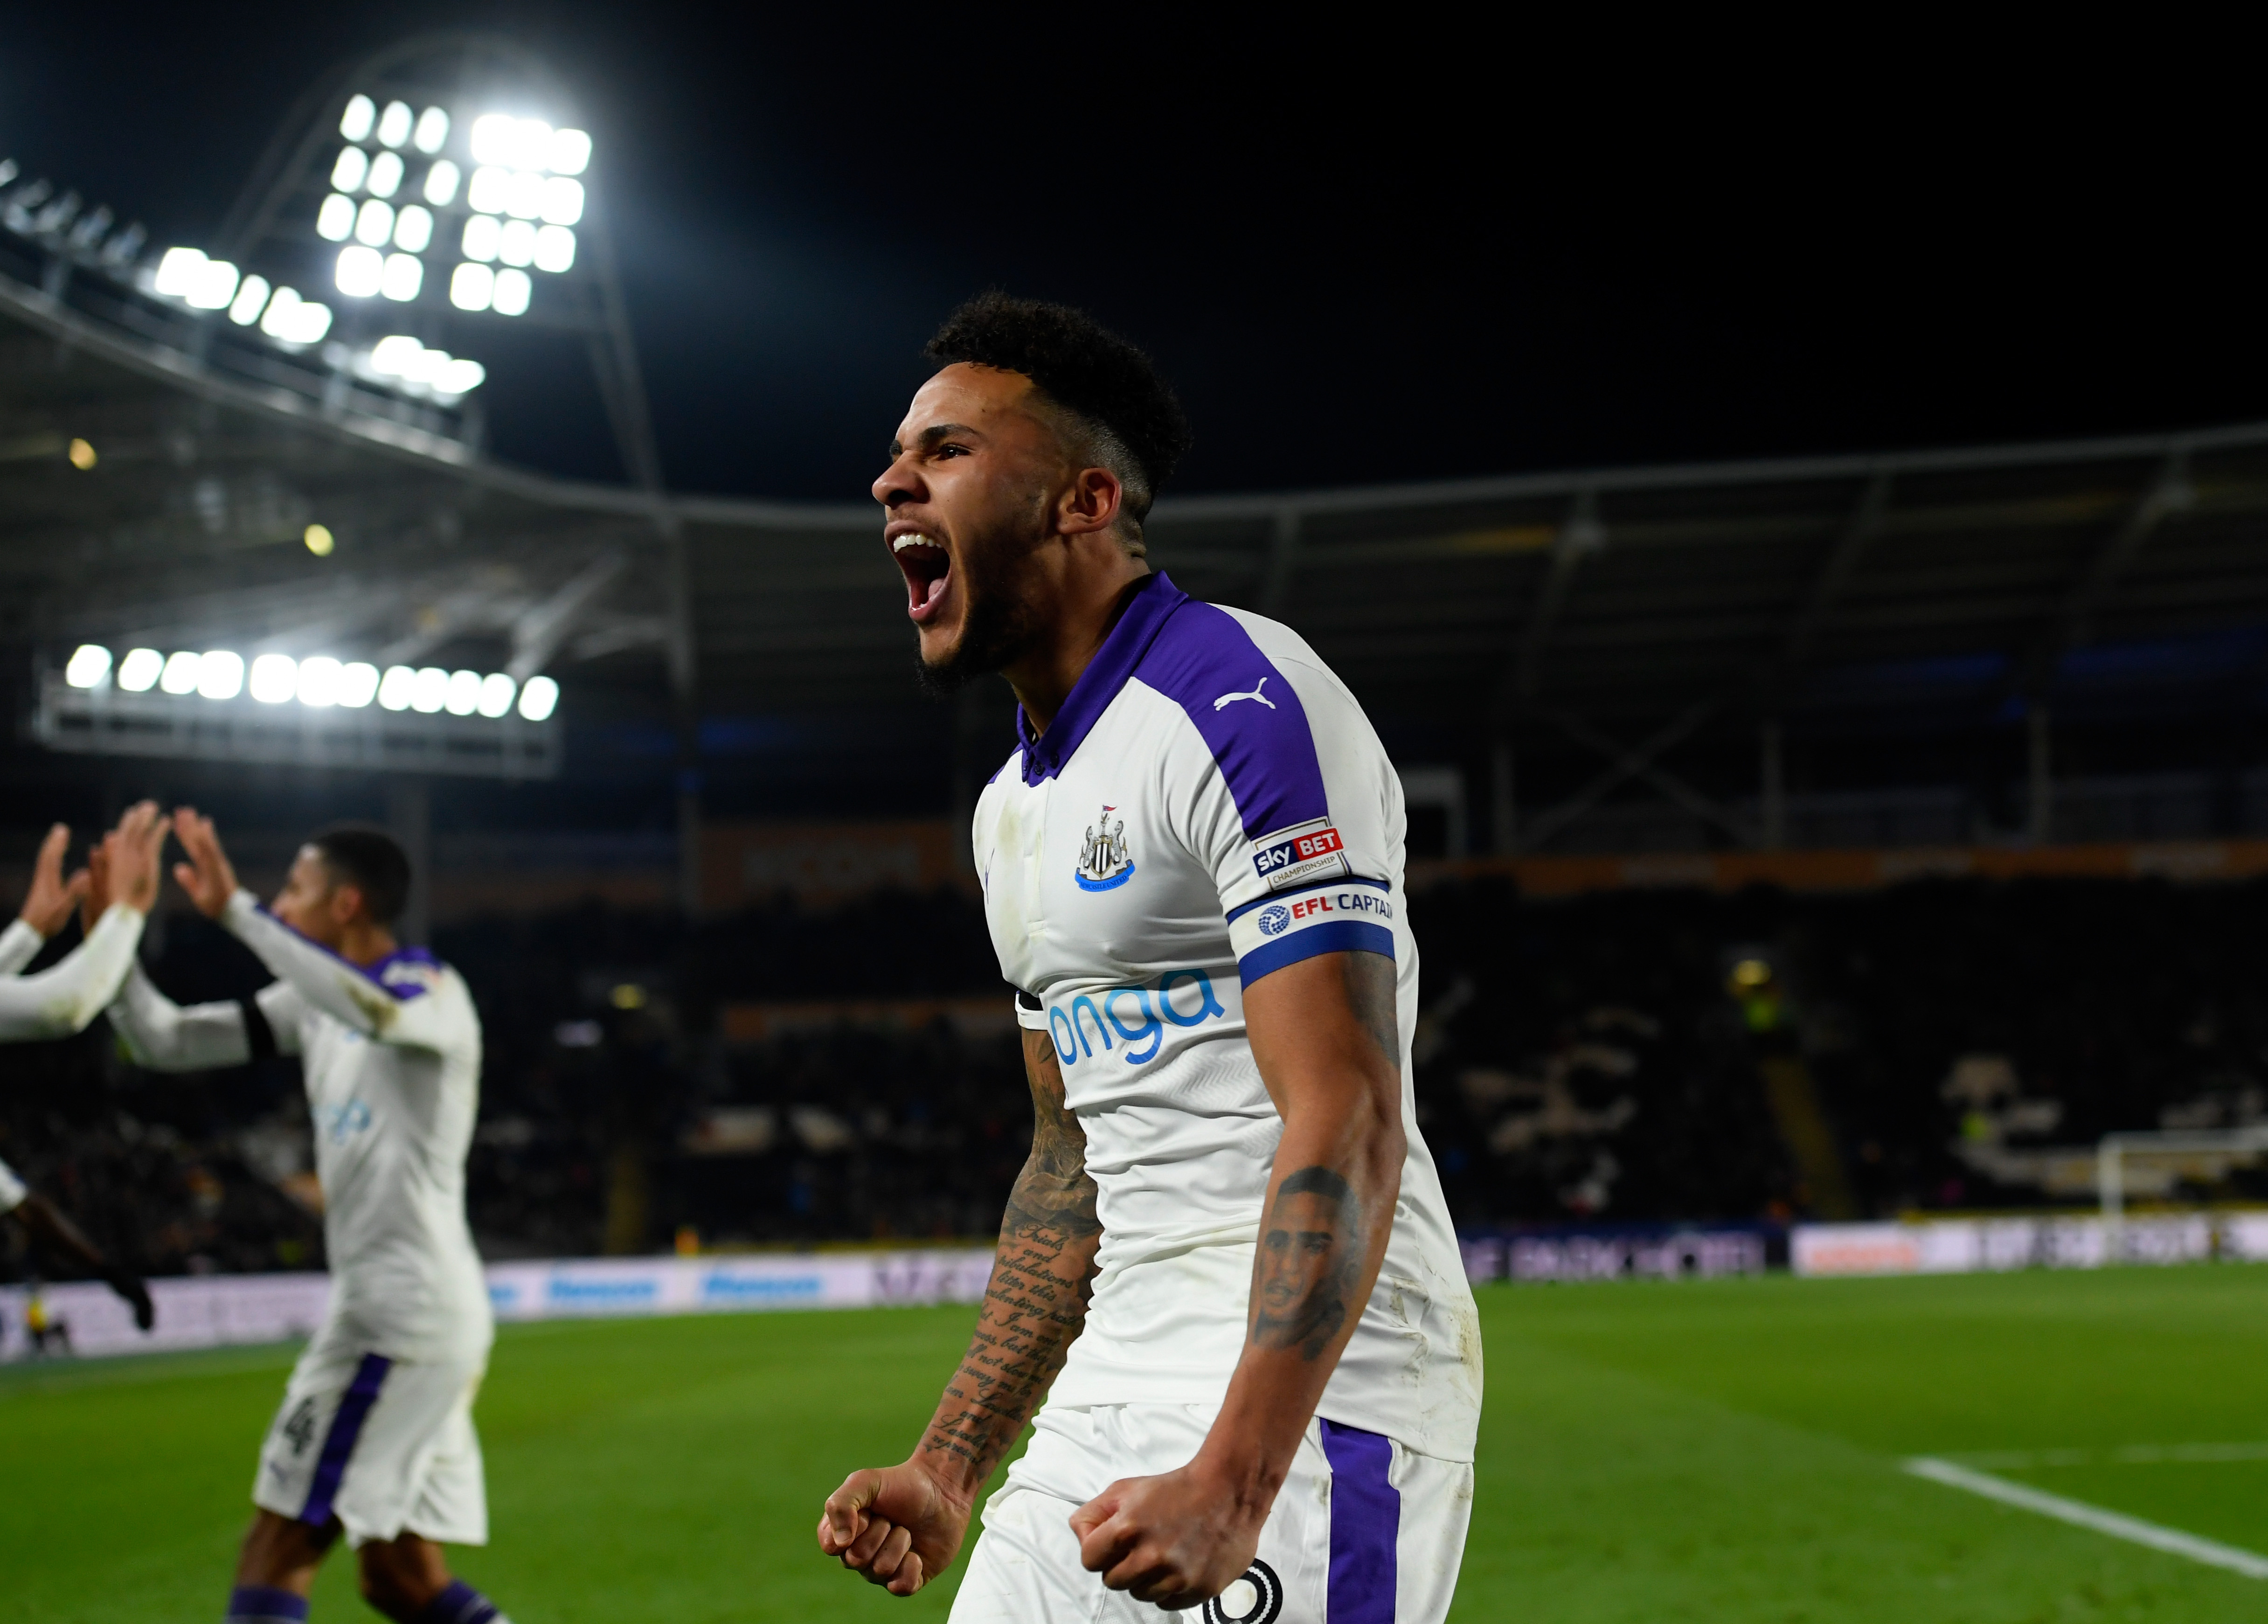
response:
[[[247,1005],[175,1007],[134,971],[111,1009],[159,1071],[299,1055],[322,1179],[331,1313],[318,1343],[413,1363],[479,1361],[494,1340],[465,1223],[465,1157],[481,1109],[481,1016],[424,948],[358,966],[238,891],[225,923],[277,973]],[[256,1016],[256,1021],[254,1021]]]

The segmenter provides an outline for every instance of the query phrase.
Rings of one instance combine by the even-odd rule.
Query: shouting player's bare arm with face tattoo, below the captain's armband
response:
[[[1284,1116],[1261,1207],[1245,1352],[1198,1458],[1111,1483],[1070,1517],[1114,1590],[1188,1608],[1243,1574],[1293,1454],[1377,1284],[1402,1189],[1395,964],[1325,953],[1245,989]]]

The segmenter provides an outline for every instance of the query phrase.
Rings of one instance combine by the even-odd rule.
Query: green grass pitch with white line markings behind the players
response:
[[[1458,1619],[2268,1617],[2268,1583],[1905,1477],[2012,1481],[2268,1551],[2268,1268],[1481,1293],[1488,1413]],[[900,1458],[968,1309],[535,1325],[497,1343],[494,1545],[519,1624],[939,1619],[826,1563],[839,1477]],[[288,1350],[0,1372],[20,1622],[218,1617]],[[374,1617],[333,1560],[315,1615]],[[1286,1619],[1286,1624],[1306,1624]]]

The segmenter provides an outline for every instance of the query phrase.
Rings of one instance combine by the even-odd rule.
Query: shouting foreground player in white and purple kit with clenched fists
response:
[[[873,494],[930,685],[1021,701],[973,837],[1034,1132],[959,1372],[819,1545],[912,1595],[1032,1420],[959,1624],[1440,1619],[1481,1338],[1411,1096],[1399,778],[1306,642],[1145,563],[1186,426],[1139,349],[984,295],[930,354]]]

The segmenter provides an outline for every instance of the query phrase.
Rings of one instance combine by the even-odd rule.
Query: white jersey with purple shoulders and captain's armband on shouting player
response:
[[[1284,1123],[1243,989],[1318,953],[1397,966],[1408,1159],[1377,1291],[1318,1409],[1470,1461],[1481,1334],[1417,1132],[1404,807],[1370,719],[1297,633],[1143,581],[1043,737],[984,787],[975,864],[1018,1021],[1086,1130],[1102,1250],[1050,1402],[1218,1404],[1245,1345]]]

